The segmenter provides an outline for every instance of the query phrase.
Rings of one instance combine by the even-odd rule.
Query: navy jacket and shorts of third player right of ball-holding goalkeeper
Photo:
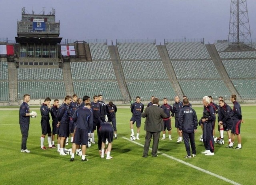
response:
[[[59,137],[68,137],[69,135],[69,121],[70,108],[67,103],[63,103],[57,111],[57,119],[60,122]]]

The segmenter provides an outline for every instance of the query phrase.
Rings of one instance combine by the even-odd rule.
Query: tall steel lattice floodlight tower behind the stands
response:
[[[231,0],[228,51],[253,50],[246,0]]]

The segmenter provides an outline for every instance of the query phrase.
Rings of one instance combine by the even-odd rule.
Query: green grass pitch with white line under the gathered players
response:
[[[35,110],[34,107],[30,109]],[[198,117],[201,117],[202,107],[194,109]],[[81,162],[78,156],[74,162],[70,162],[70,155],[60,156],[56,149],[40,149],[40,116],[30,119],[27,147],[31,153],[21,153],[18,109],[3,109],[0,111],[0,184],[225,185],[230,184],[227,179],[233,184],[256,184],[255,109],[256,106],[242,105],[242,115],[246,123],[241,125],[241,150],[225,148],[227,137],[224,133],[226,143],[215,145],[214,156],[201,154],[204,147],[199,142],[202,134],[199,128],[196,133],[197,155],[192,159],[185,159],[184,143],[176,143],[178,135],[173,119],[173,140],[160,140],[158,157],[149,155],[143,158],[144,119],[140,140],[130,141],[130,109],[119,108],[116,115],[118,140],[114,140],[111,152],[113,159],[101,159],[97,144],[94,144],[87,150],[89,161],[86,162]],[[39,109],[36,112],[40,114]],[[219,136],[217,130],[215,136]],[[237,141],[234,146],[236,145]],[[70,147],[71,145],[66,146]],[[215,176],[204,171],[214,173]],[[219,176],[226,179],[220,179]]]

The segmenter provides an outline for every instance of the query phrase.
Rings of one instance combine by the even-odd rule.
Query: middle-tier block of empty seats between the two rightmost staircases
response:
[[[172,60],[171,62],[178,80],[220,78],[212,60]]]

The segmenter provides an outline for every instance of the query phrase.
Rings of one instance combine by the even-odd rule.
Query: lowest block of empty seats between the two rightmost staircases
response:
[[[179,84],[183,93],[190,99],[200,99],[209,95],[214,98],[228,98],[231,94],[222,80],[181,80]]]

